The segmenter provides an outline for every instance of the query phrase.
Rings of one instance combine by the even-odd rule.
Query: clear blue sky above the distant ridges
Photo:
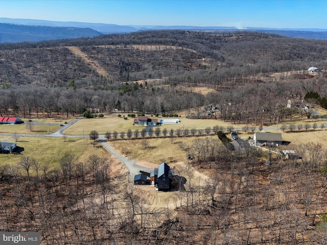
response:
[[[141,26],[327,29],[327,1],[0,0],[0,17]]]

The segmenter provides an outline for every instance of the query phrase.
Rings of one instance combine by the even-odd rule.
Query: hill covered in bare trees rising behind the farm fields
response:
[[[215,117],[224,120],[283,120],[292,116],[277,106],[286,98],[301,100],[314,90],[327,95],[323,72],[307,72],[310,66],[324,70],[325,44],[264,33],[185,31],[3,44],[0,112],[161,114],[213,104],[221,112]],[[216,92],[204,95],[192,87]]]

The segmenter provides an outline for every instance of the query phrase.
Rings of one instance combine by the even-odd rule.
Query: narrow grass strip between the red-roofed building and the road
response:
[[[33,131],[27,124],[3,124],[0,125],[0,133],[17,134],[51,134],[60,129],[59,125],[33,125]]]

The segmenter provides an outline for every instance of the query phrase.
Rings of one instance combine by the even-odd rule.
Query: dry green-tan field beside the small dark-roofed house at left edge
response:
[[[60,158],[66,153],[82,156],[88,148],[94,149],[90,140],[81,138],[68,138],[64,141],[62,138],[55,137],[20,137],[17,145],[25,150],[17,155],[0,154],[0,164],[16,164],[22,156],[28,156],[52,168],[59,166]]]

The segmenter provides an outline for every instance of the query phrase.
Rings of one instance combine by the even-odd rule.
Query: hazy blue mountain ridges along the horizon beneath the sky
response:
[[[327,40],[327,29],[273,29],[244,27],[198,27],[198,26],[120,26],[118,24],[87,23],[75,21],[51,21],[38,19],[0,18],[0,43],[43,41],[94,37],[102,34],[131,33],[146,30],[192,30],[192,31],[260,31],[295,38]]]

